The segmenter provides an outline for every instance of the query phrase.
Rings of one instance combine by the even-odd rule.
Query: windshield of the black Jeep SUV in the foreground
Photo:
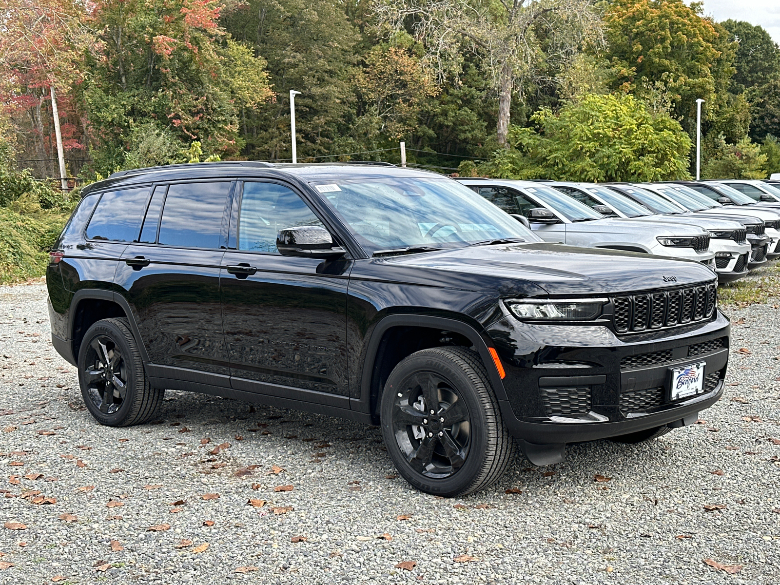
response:
[[[369,252],[454,248],[485,240],[541,241],[511,215],[452,179],[369,178],[314,184]]]

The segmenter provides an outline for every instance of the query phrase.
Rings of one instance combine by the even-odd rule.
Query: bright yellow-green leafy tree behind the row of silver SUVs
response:
[[[690,138],[678,122],[654,115],[630,94],[587,94],[512,126],[514,148],[499,150],[477,171],[516,179],[660,181],[688,176]]]

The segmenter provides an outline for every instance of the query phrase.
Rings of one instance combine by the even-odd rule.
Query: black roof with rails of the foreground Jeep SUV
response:
[[[431,177],[442,175],[415,168],[401,168],[390,163],[374,162],[317,162],[317,163],[270,163],[264,161],[220,161],[196,162],[182,165],[164,165],[158,167],[133,168],[129,171],[113,173],[108,179],[90,183],[81,190],[81,196],[94,191],[148,184],[158,181],[176,181],[182,179],[219,179],[231,177],[265,177],[297,179],[298,183],[310,181],[392,178],[392,177]]]

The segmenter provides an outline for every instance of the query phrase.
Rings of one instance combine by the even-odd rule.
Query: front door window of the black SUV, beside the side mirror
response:
[[[244,183],[239,250],[276,252],[276,233],[296,225],[322,225],[296,193],[276,183]]]

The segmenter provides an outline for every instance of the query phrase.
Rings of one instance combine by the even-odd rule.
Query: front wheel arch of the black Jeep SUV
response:
[[[394,332],[404,331],[408,335],[409,330],[414,332],[421,329],[430,332],[438,332],[441,336],[444,332],[452,332],[456,336],[465,338],[471,346],[477,350],[485,368],[490,376],[491,385],[496,399],[505,400],[506,391],[502,378],[498,375],[495,363],[489,347],[493,346],[490,338],[473,327],[473,325],[451,317],[436,317],[416,314],[393,314],[384,317],[375,326],[367,343],[363,371],[360,376],[360,399],[353,399],[353,410],[361,410],[368,413],[374,422],[378,422],[378,404],[381,398],[384,382],[387,376],[404,357],[427,347],[445,346],[446,343],[438,342],[424,347],[416,347],[411,351],[401,351],[392,354],[389,363],[381,363],[383,356],[392,348],[392,335]],[[458,344],[454,344],[458,345]],[[463,344],[465,345],[465,344]]]

